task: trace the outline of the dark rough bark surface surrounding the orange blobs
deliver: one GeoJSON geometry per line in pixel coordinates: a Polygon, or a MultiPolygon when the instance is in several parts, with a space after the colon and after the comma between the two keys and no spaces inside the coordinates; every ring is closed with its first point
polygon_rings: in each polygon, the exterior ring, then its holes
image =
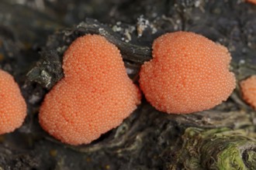
{"type": "Polygon", "coordinates": [[[164,32],[202,34],[227,46],[237,83],[256,73],[256,5],[242,0],[1,1],[0,68],[15,76],[28,115],[0,136],[2,169],[255,169],[255,110],[240,97],[195,114],[161,113],[145,99],[118,128],[70,146],[40,128],[45,94],[64,76],[62,56],[78,36],[105,36],[135,83],[164,32]]]}

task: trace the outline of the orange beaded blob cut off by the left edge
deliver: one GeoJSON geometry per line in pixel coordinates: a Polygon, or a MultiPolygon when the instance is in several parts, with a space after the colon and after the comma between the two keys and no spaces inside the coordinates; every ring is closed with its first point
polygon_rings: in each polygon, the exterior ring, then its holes
{"type": "Polygon", "coordinates": [[[26,117],[26,102],[13,77],[0,70],[0,134],[19,128],[26,117]]]}

